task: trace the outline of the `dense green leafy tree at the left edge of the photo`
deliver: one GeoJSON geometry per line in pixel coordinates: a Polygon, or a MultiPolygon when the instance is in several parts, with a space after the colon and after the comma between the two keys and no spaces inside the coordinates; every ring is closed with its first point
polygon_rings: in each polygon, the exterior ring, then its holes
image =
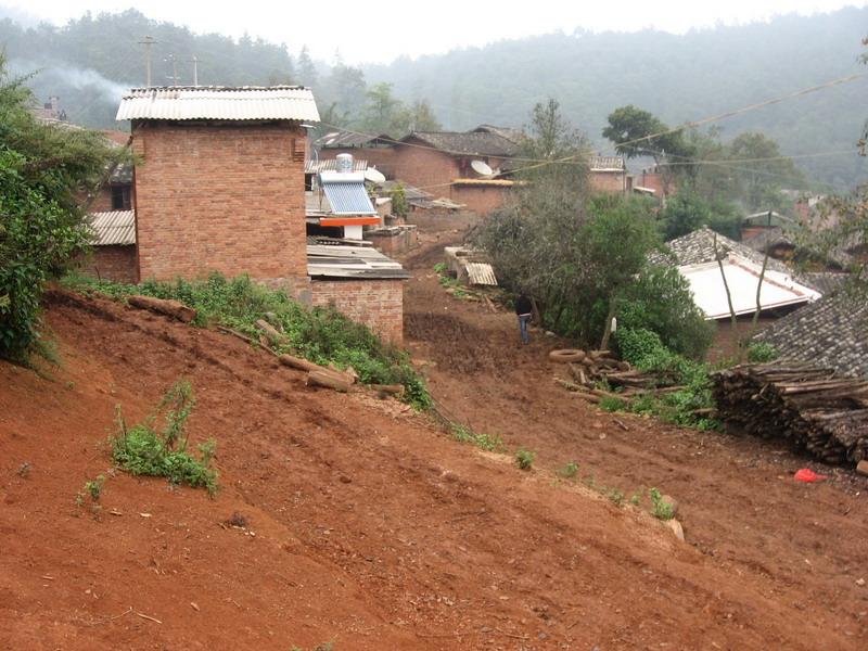
{"type": "Polygon", "coordinates": [[[38,123],[0,56],[0,357],[26,361],[44,284],[87,246],[79,199],[124,156],[102,135],[38,123]]]}

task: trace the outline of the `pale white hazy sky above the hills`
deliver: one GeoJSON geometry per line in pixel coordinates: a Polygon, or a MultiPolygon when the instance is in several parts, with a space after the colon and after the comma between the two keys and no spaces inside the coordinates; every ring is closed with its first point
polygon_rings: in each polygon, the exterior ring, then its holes
{"type": "MultiPolygon", "coordinates": [[[[142,0],[135,7],[151,18],[189,26],[193,31],[241,36],[245,31],[285,42],[292,51],[307,43],[316,58],[332,60],[335,49],[348,63],[387,62],[401,54],[418,56],[455,48],[545,34],[634,31],[654,27],[684,33],[767,20],[776,14],[828,12],[868,0],[327,0],[319,2],[182,2],[142,0]]],[[[85,11],[122,11],[132,7],[113,0],[0,0],[0,5],[63,24],[85,11]]]]}

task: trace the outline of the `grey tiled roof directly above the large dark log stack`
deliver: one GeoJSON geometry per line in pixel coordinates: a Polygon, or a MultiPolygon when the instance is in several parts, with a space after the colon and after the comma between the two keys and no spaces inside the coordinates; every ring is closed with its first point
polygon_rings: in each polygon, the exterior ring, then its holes
{"type": "Polygon", "coordinates": [[[781,357],[829,366],[843,375],[868,375],[868,301],[839,290],[783,317],[754,340],[781,357]]]}

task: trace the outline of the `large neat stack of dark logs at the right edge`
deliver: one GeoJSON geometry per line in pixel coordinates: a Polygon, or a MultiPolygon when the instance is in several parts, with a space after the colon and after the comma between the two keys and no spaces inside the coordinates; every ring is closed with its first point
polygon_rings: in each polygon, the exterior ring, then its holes
{"type": "Polygon", "coordinates": [[[733,431],[789,439],[827,463],[868,458],[868,380],[792,361],[741,365],[713,379],[718,413],[733,431]]]}

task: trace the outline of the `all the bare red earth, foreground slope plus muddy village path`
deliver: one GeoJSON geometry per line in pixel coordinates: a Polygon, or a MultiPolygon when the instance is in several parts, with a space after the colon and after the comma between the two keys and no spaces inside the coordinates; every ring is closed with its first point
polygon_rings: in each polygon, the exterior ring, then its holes
{"type": "Polygon", "coordinates": [[[0,648],[868,647],[868,482],[572,398],[560,342],[522,347],[513,316],[437,284],[463,226],[407,257],[407,343],[441,410],[507,454],[231,336],[52,293],[60,367],[0,362],[0,648]],[[217,441],[214,499],[111,468],[116,406],[137,422],[179,378],[191,438],[217,441]],[[584,482],[556,474],[569,461],[584,482]],[[831,478],[796,484],[803,465],[831,478]],[[94,514],[75,496],[100,474],[94,514]],[[674,496],[686,541],[590,475],[674,496]]]}

